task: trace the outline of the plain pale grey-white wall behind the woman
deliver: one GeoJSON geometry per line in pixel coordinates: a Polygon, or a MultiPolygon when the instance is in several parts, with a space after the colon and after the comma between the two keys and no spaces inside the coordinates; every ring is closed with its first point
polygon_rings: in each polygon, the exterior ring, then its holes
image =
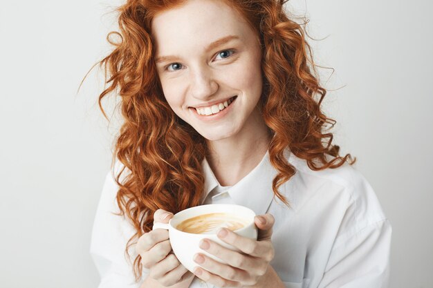
{"type": "MultiPolygon", "coordinates": [[[[390,287],[433,287],[432,3],[290,3],[323,39],[310,41],[317,64],[335,69],[321,80],[336,143],[391,221],[390,287]]],[[[77,88],[109,52],[115,6],[1,1],[0,287],[98,285],[89,242],[118,124],[98,111],[98,68],[77,88]]]]}

